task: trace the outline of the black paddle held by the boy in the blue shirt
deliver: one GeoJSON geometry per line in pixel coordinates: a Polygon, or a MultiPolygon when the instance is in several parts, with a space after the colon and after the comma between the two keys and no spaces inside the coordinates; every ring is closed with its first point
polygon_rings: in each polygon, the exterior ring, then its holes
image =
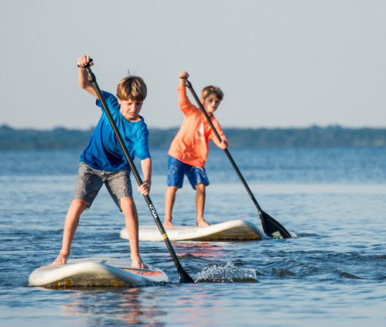
{"type": "MultiPolygon", "coordinates": [[[[110,110],[106,105],[106,102],[104,100],[104,96],[102,95],[102,92],[100,91],[100,88],[97,84],[97,79],[95,78],[95,74],[91,71],[90,65],[85,67],[85,70],[88,74],[88,80],[92,84],[92,86],[95,89],[95,92],[97,92],[98,98],[100,102],[102,103],[102,107],[104,109],[104,112],[107,116],[107,118],[110,121],[111,127],[113,128],[113,131],[116,135],[116,138],[118,139],[118,142],[120,144],[120,147],[122,147],[123,153],[125,154],[126,160],[130,165],[130,168],[132,170],[132,173],[135,176],[135,179],[137,180],[138,185],[142,185],[142,179],[141,176],[139,176],[139,173],[137,171],[137,168],[135,168],[135,164],[132,161],[129,152],[127,151],[127,147],[125,145],[125,142],[123,142],[123,138],[120,135],[118,128],[116,127],[115,121],[113,121],[113,117],[111,116],[110,110]]],[[[177,258],[176,253],[174,252],[174,248],[172,247],[172,243],[170,243],[169,238],[167,237],[167,234],[165,232],[165,229],[163,228],[162,223],[160,222],[160,218],[158,218],[158,213],[156,211],[156,208],[153,206],[153,202],[150,199],[149,195],[144,195],[144,198],[146,200],[147,206],[149,207],[149,210],[151,212],[151,215],[153,215],[154,220],[156,221],[156,224],[158,226],[158,229],[160,229],[160,233],[163,236],[163,240],[165,241],[165,244],[167,246],[167,249],[169,250],[170,255],[172,256],[172,259],[174,261],[174,265],[177,267],[177,271],[179,272],[179,281],[180,283],[194,283],[191,276],[188,275],[187,272],[181,267],[181,264],[179,263],[179,260],[177,258]]]]}

